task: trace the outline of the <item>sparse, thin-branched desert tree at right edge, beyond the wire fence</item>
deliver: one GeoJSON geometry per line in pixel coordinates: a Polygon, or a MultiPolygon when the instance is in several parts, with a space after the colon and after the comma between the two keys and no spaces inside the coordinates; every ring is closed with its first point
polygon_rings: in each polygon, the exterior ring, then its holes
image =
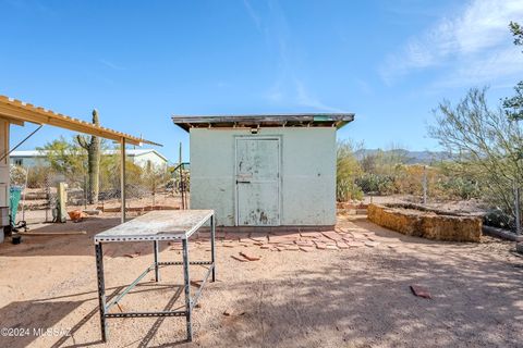
{"type": "Polygon", "coordinates": [[[477,181],[486,202],[514,216],[513,185],[523,173],[523,133],[501,108],[487,105],[486,90],[472,88],[457,104],[439,103],[429,135],[453,154],[461,174],[477,181]]]}

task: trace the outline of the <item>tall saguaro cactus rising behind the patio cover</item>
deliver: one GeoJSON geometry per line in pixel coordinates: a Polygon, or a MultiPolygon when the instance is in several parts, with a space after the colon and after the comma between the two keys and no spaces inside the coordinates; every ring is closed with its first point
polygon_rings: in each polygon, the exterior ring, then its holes
{"type": "MultiPolygon", "coordinates": [[[[93,123],[99,125],[98,111],[93,110],[93,123]]],[[[100,139],[97,136],[76,136],[78,145],[87,150],[87,200],[90,204],[98,202],[99,177],[100,177],[100,139]]]]}

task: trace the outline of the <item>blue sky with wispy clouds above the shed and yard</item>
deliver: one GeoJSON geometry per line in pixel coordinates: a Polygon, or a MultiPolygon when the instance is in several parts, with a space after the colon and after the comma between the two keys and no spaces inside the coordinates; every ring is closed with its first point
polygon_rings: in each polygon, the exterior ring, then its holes
{"type": "Polygon", "coordinates": [[[495,105],[523,79],[510,21],[523,1],[0,0],[0,94],[84,120],[97,108],[173,162],[188,136],[172,114],[354,112],[339,138],[437,149],[440,100],[487,85],[495,105]]]}

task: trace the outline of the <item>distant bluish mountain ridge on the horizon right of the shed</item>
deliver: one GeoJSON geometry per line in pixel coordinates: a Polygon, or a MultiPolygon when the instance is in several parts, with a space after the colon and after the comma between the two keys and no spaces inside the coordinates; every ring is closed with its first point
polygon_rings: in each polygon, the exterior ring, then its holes
{"type": "Polygon", "coordinates": [[[393,156],[406,164],[430,164],[450,160],[452,156],[445,151],[409,151],[404,149],[381,150],[381,149],[360,149],[354,152],[356,159],[362,160],[368,156],[393,156]]]}

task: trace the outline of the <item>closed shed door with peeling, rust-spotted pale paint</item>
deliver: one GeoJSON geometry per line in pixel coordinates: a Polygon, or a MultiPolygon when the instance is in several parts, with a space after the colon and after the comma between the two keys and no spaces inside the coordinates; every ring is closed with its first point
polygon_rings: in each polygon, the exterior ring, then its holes
{"type": "Polygon", "coordinates": [[[280,224],[280,140],[236,139],[236,224],[280,224]]]}

